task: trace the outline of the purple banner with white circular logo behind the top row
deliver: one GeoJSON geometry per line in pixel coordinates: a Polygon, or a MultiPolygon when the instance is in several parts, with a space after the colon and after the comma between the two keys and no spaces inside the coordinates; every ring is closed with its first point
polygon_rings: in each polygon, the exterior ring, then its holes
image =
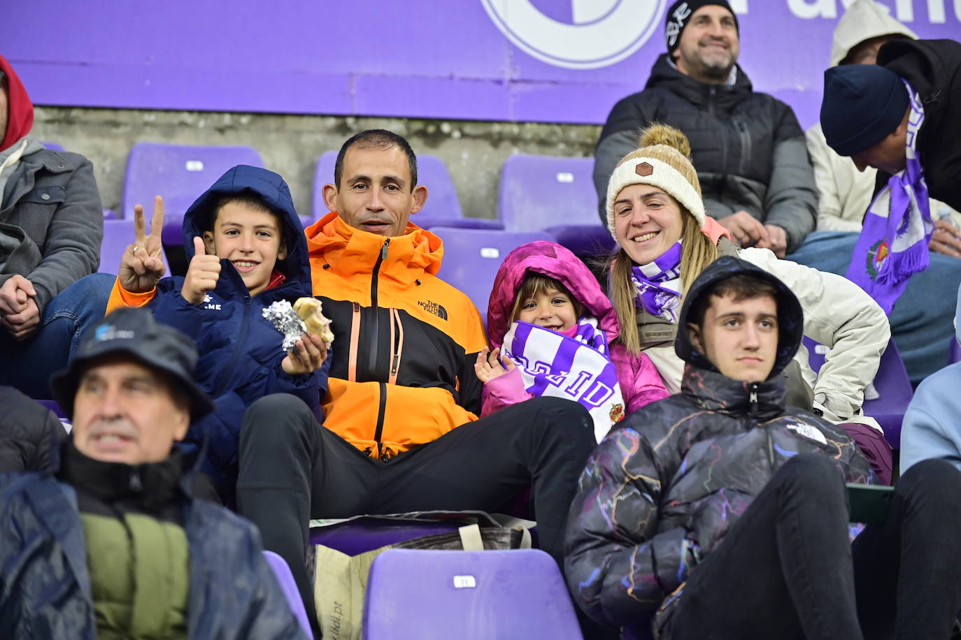
{"type": "MultiPolygon", "coordinates": [[[[817,120],[850,0],[732,0],[754,88],[817,120]]],[[[961,0],[883,0],[921,37],[961,0]]],[[[5,3],[38,105],[601,123],[663,53],[668,0],[5,3]]]]}

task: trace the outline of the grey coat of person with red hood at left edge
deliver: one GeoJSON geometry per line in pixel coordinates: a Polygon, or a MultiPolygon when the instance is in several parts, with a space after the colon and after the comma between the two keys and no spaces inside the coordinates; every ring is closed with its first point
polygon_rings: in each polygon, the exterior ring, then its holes
{"type": "Polygon", "coordinates": [[[0,236],[0,286],[16,273],[29,279],[41,314],[97,271],[104,214],[90,161],[46,149],[20,158],[0,204],[0,236]]]}

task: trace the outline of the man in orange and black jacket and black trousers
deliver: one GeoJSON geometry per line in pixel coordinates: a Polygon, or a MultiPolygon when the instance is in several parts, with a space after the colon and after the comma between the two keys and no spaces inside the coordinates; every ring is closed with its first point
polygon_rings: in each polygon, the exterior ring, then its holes
{"type": "Polygon", "coordinates": [[[331,213],[305,230],[334,335],[323,427],[285,394],[260,399],[241,427],[238,510],[287,560],[311,614],[311,517],[499,510],[533,485],[541,547],[560,559],[595,445],[590,416],[564,399],[478,418],[486,339],[474,304],[435,275],[440,239],[409,223],[427,195],[403,137],[344,143],[324,187],[331,213]]]}

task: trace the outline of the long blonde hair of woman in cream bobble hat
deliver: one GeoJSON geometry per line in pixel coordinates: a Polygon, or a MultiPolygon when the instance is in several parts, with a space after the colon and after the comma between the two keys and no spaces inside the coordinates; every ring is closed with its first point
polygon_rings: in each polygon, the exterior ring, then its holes
{"type": "MultiPolygon", "coordinates": [[[[710,238],[704,235],[701,225],[678,202],[682,220],[681,251],[680,251],[680,281],[683,285],[682,295],[687,294],[688,287],[695,278],[701,275],[704,268],[718,259],[718,249],[710,238]]],[[[628,252],[618,247],[610,259],[610,295],[617,312],[617,320],[621,323],[621,344],[631,354],[641,351],[641,336],[637,331],[637,291],[631,281],[633,260],[628,252]]]]}

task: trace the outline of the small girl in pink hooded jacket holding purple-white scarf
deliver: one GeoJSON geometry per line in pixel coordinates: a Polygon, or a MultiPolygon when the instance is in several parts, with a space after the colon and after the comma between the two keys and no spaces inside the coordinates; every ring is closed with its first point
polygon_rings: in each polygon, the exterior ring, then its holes
{"type": "Polygon", "coordinates": [[[480,415],[534,395],[574,400],[594,418],[598,441],[625,415],[667,397],[645,354],[618,344],[614,308],[587,267],[553,242],[511,251],[487,307],[493,351],[475,365],[480,415]]]}

